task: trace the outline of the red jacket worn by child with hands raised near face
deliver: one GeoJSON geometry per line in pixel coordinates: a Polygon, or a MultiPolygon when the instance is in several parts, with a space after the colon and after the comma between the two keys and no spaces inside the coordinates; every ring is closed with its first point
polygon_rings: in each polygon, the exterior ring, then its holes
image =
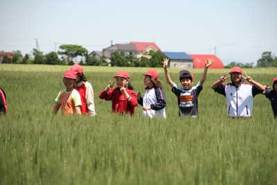
{"type": "Polygon", "coordinates": [[[100,91],[99,98],[105,100],[111,100],[111,108],[113,112],[118,112],[120,114],[130,113],[134,115],[134,107],[138,105],[138,100],[136,100],[136,94],[133,90],[126,89],[127,94],[131,96],[129,100],[127,100],[127,96],[122,94],[120,89],[110,89],[105,92],[100,91]]]}

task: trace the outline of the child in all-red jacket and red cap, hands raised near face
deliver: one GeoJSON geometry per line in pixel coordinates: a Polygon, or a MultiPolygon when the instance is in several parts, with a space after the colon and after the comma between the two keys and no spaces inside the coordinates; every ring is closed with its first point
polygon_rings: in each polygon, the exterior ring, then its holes
{"type": "Polygon", "coordinates": [[[111,100],[111,109],[115,113],[134,115],[134,107],[138,105],[138,101],[129,82],[129,73],[119,71],[114,78],[116,78],[117,87],[113,89],[114,83],[109,82],[109,85],[100,91],[99,98],[111,100]]]}

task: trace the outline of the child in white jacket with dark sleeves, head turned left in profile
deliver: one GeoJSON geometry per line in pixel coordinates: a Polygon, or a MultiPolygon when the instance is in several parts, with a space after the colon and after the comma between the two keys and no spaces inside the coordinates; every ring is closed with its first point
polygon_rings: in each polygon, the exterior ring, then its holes
{"type": "Polygon", "coordinates": [[[159,73],[150,69],[143,75],[146,91],[143,97],[137,93],[139,104],[143,106],[143,116],[166,118],[166,96],[158,80],[159,73]]]}

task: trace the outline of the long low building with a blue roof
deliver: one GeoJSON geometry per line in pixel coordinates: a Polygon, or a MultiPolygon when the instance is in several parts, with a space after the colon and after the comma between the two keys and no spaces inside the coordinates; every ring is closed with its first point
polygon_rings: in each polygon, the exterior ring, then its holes
{"type": "Polygon", "coordinates": [[[168,67],[184,68],[184,69],[193,68],[193,58],[191,58],[185,52],[163,51],[163,54],[166,55],[167,58],[169,58],[168,67]]]}

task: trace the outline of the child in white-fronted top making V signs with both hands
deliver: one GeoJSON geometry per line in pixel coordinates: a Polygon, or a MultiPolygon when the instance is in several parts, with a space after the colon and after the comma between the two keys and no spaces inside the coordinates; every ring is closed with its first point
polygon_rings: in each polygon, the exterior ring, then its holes
{"type": "Polygon", "coordinates": [[[254,81],[250,76],[242,76],[240,67],[230,70],[231,83],[223,84],[228,77],[222,76],[217,80],[212,89],[226,97],[228,116],[251,118],[253,109],[253,97],[265,91],[265,87],[254,81]],[[247,80],[249,83],[245,83],[247,80]]]}

